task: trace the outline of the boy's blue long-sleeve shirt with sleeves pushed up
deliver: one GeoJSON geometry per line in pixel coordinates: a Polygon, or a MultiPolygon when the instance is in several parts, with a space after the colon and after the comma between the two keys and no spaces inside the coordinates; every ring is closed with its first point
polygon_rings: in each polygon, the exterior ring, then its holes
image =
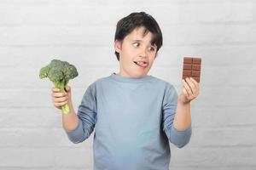
{"type": "Polygon", "coordinates": [[[172,84],[113,73],[90,84],[79,105],[79,125],[66,132],[79,143],[95,129],[95,170],[167,170],[169,141],[180,148],[191,136],[191,127],[173,127],[176,108],[172,84]]]}

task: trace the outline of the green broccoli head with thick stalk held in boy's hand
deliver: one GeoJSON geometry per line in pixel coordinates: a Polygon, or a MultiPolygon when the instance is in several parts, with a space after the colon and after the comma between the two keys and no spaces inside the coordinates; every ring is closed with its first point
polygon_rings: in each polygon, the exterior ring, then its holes
{"type": "MultiPolygon", "coordinates": [[[[70,79],[78,77],[79,73],[74,65],[70,65],[67,61],[52,59],[49,65],[40,69],[39,77],[49,78],[54,83],[55,88],[59,88],[61,92],[65,91],[65,87],[70,79]]],[[[63,105],[61,110],[64,114],[70,113],[68,105],[63,105]]]]}

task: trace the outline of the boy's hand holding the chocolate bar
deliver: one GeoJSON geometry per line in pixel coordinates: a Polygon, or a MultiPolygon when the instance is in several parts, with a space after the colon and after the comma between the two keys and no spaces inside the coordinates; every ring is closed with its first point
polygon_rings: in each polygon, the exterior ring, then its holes
{"type": "Polygon", "coordinates": [[[186,81],[183,79],[183,90],[179,96],[179,100],[184,104],[189,103],[195,99],[199,94],[199,83],[192,77],[187,77],[186,81]]]}

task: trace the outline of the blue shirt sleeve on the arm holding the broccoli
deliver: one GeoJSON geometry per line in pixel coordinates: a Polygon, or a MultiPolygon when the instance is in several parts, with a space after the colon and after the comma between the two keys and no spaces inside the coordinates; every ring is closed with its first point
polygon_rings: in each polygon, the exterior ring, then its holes
{"type": "Polygon", "coordinates": [[[90,85],[84,93],[78,111],[79,125],[73,131],[67,131],[67,137],[73,143],[83,142],[90,137],[96,124],[96,88],[90,85]]]}

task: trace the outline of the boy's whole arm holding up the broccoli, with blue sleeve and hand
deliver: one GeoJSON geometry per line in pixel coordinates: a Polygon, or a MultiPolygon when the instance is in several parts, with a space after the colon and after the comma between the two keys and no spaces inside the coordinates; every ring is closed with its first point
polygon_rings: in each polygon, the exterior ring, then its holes
{"type": "Polygon", "coordinates": [[[68,138],[73,143],[80,143],[89,138],[90,133],[96,124],[96,90],[95,88],[87,88],[81,105],[79,105],[78,114],[73,110],[71,101],[71,88],[67,87],[67,93],[59,94],[61,98],[58,103],[55,102],[55,106],[61,109],[61,105],[67,105],[70,107],[70,114],[62,114],[62,126],[67,133],[68,138]]]}

